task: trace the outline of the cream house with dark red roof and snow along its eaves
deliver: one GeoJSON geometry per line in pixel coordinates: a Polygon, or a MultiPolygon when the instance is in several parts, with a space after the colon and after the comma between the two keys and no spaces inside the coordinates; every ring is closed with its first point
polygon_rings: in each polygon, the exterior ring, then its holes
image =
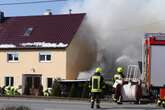
{"type": "Polygon", "coordinates": [[[74,80],[95,54],[77,34],[85,14],[4,17],[0,14],[0,86],[33,95],[54,79],[74,80]]]}

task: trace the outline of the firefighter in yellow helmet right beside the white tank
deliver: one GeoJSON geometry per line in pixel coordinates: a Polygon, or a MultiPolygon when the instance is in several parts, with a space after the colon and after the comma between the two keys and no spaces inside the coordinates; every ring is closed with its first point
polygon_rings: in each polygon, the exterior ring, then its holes
{"type": "Polygon", "coordinates": [[[117,67],[116,74],[113,77],[114,84],[113,84],[113,91],[114,94],[112,96],[113,100],[118,104],[121,104],[122,95],[121,95],[121,87],[123,84],[124,79],[124,69],[122,67],[117,67]]]}

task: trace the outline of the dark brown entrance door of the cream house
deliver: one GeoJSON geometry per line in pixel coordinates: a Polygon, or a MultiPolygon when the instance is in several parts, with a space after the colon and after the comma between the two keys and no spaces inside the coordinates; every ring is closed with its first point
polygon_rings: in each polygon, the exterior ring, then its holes
{"type": "Polygon", "coordinates": [[[25,74],[24,76],[24,94],[38,96],[40,93],[41,75],[25,74]]]}

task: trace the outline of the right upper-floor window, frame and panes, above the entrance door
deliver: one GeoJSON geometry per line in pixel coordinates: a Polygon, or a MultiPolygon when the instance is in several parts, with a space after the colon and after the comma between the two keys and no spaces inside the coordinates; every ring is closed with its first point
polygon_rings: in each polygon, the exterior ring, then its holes
{"type": "Polygon", "coordinates": [[[51,61],[51,54],[49,54],[49,53],[40,53],[39,54],[39,61],[40,62],[50,62],[51,61]]]}

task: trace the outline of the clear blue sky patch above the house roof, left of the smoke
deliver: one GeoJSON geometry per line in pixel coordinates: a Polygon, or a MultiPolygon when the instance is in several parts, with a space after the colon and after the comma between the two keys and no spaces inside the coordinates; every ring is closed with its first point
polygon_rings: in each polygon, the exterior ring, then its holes
{"type": "MultiPolygon", "coordinates": [[[[18,3],[18,2],[34,2],[34,1],[47,1],[47,0],[0,0],[3,3],[18,3]]],[[[51,9],[54,14],[60,14],[61,10],[67,4],[75,1],[83,0],[66,0],[59,2],[37,3],[37,4],[23,4],[23,5],[0,5],[0,10],[5,12],[5,16],[29,16],[41,15],[46,9],[51,9]]],[[[69,10],[69,9],[68,9],[69,10]]]]}

